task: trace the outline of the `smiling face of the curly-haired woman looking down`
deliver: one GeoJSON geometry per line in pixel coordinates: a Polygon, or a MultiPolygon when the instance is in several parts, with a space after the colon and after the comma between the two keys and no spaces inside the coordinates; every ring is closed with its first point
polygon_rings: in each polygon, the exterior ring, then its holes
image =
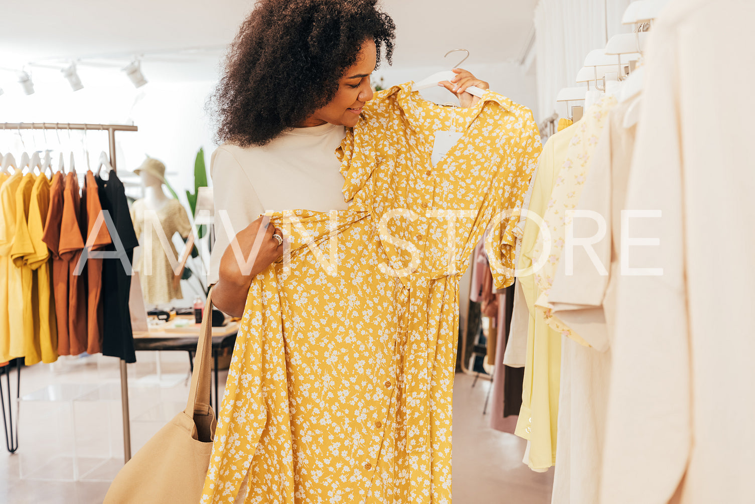
{"type": "Polygon", "coordinates": [[[354,126],[362,113],[362,105],[372,99],[370,74],[377,63],[374,40],[362,42],[356,63],[338,81],[338,91],[325,107],[315,110],[302,126],[319,126],[330,122],[339,126],[354,126]]]}

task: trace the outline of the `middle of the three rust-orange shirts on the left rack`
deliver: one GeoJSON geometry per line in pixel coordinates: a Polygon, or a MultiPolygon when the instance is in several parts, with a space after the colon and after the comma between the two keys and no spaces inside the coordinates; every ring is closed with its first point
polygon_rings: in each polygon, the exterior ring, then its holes
{"type": "Polygon", "coordinates": [[[68,261],[68,338],[69,353],[79,355],[87,351],[87,292],[86,268],[76,274],[76,265],[84,249],[82,238],[81,197],[79,179],[66,174],[63,190],[63,218],[60,221],[60,257],[68,261]]]}

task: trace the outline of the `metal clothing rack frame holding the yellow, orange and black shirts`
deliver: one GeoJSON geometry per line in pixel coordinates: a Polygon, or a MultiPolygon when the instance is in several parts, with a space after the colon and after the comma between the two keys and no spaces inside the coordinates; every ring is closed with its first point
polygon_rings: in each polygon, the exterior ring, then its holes
{"type": "MultiPolygon", "coordinates": [[[[5,130],[22,130],[22,129],[57,129],[57,130],[82,130],[82,131],[107,131],[110,166],[112,169],[116,169],[116,131],[139,131],[139,128],[134,125],[122,125],[122,124],[89,124],[83,122],[4,122],[2,123],[5,130]]],[[[18,366],[18,379],[20,381],[20,362],[17,360],[18,366]]],[[[2,393],[2,388],[0,388],[2,393]]],[[[10,391],[8,391],[8,405],[10,407],[11,397],[10,391]]],[[[0,397],[2,399],[2,397],[0,397]]],[[[18,400],[18,397],[17,397],[18,400]]],[[[126,369],[125,360],[121,359],[121,405],[123,412],[123,457],[125,462],[131,459],[131,422],[128,415],[128,371],[126,369]]],[[[18,408],[17,408],[18,411],[18,408]]],[[[8,431],[8,425],[5,422],[5,416],[3,422],[6,424],[5,429],[8,431]]],[[[13,422],[11,420],[11,429],[13,422]]],[[[16,423],[18,428],[18,422],[16,423]]],[[[10,450],[10,446],[8,449],[10,450]]],[[[17,449],[17,446],[15,446],[17,449]]],[[[15,451],[14,449],[14,451],[15,451]]]]}

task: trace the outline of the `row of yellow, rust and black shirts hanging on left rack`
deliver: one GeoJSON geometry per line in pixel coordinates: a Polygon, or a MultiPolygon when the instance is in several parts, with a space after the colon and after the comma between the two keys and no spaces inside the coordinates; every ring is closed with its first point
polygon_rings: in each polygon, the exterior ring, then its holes
{"type": "Polygon", "coordinates": [[[92,254],[125,252],[131,264],[138,243],[123,184],[97,169],[79,187],[75,168],[41,172],[27,158],[15,165],[6,154],[0,172],[0,362],[100,352],[134,362],[128,274],[118,258],[92,254]]]}

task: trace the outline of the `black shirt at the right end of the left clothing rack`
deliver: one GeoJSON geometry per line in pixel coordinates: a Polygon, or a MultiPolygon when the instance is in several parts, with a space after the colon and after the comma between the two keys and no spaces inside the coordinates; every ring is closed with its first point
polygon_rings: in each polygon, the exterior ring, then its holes
{"type": "MultiPolygon", "coordinates": [[[[115,171],[109,172],[108,179],[103,180],[95,175],[97,193],[103,212],[107,211],[116,227],[118,239],[128,256],[128,263],[133,264],[134,248],[139,245],[134,224],[131,222],[131,212],[128,211],[123,183],[115,171]]],[[[112,235],[112,231],[111,231],[112,235]]],[[[116,237],[112,237],[113,242],[116,237]]],[[[111,243],[104,249],[115,252],[116,246],[111,243]]],[[[129,292],[131,291],[131,271],[126,271],[122,261],[118,258],[104,258],[102,266],[102,305],[103,305],[103,342],[102,354],[110,357],[120,357],[127,363],[137,361],[134,353],[134,334],[131,332],[131,311],[128,309],[129,292]]]]}

